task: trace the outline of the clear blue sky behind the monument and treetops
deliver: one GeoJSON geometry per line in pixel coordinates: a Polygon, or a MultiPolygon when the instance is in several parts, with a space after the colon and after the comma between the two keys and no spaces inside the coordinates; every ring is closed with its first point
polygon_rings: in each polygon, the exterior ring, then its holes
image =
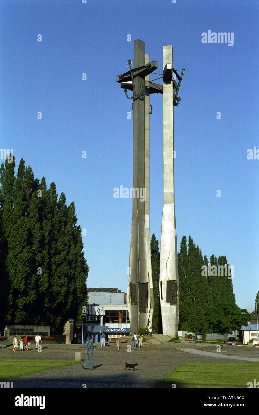
{"type": "MultiPolygon", "coordinates": [[[[225,255],[237,305],[254,310],[259,160],[248,160],[247,149],[259,149],[258,3],[1,0],[0,10],[0,147],[13,149],[17,165],[23,157],[48,186],[54,181],[67,204],[75,202],[87,230],[88,287],[127,290],[132,200],[115,199],[113,189],[132,187],[133,120],[116,76],[127,71],[133,41],[141,39],[157,72],[168,44],[174,68],[185,68],[174,108],[178,249],[191,235],[208,258],[225,255]],[[233,46],[202,43],[209,30],[233,32],[233,46]]],[[[161,94],[150,103],[150,230],[160,243],[161,94]]]]}

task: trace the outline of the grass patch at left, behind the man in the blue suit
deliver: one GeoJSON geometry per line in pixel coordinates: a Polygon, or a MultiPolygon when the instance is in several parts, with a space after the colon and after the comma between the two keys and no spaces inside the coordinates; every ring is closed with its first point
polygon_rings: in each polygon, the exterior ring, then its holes
{"type": "Polygon", "coordinates": [[[42,372],[56,367],[78,364],[71,360],[6,360],[0,359],[0,381],[8,378],[28,375],[30,373],[42,372]]]}

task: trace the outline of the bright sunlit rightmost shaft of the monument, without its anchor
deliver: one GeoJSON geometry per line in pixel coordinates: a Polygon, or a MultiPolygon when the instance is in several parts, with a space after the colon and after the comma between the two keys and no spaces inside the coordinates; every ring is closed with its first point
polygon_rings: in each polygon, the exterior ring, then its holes
{"type": "Polygon", "coordinates": [[[173,48],[163,46],[164,206],[160,244],[160,304],[163,334],[178,334],[179,280],[174,209],[173,48]]]}

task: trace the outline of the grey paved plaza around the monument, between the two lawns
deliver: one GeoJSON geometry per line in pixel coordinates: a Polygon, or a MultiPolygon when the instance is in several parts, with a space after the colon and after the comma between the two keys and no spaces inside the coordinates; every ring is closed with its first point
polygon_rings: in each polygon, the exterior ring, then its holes
{"type": "MultiPolygon", "coordinates": [[[[105,348],[101,348],[100,343],[94,343],[95,370],[90,371],[89,365],[83,369],[82,360],[82,363],[20,376],[10,381],[14,382],[14,388],[163,388],[161,379],[183,363],[259,361],[259,349],[253,347],[226,345],[222,352],[216,352],[215,345],[196,345],[186,341],[176,344],[169,342],[166,336],[156,336],[144,342],[143,349],[131,348],[131,352],[127,352],[127,349],[132,342],[125,340],[120,343],[120,351],[117,351],[114,342],[105,348]],[[135,371],[125,371],[125,362],[137,363],[138,366],[135,371]]],[[[75,352],[82,352],[82,359],[87,359],[86,344],[64,345],[45,341],[42,343],[42,352],[37,352],[35,348],[12,352],[10,342],[1,342],[1,346],[4,347],[0,348],[0,359],[17,360],[17,366],[20,359],[74,361],[75,352]]],[[[244,388],[247,388],[246,384],[244,388]]]]}

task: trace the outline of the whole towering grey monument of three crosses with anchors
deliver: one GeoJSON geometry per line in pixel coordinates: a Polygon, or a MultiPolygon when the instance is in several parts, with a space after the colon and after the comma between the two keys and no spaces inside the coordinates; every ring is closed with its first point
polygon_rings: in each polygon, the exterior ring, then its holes
{"type": "MultiPolygon", "coordinates": [[[[179,283],[177,264],[176,221],[174,210],[174,159],[173,159],[173,106],[181,101],[178,90],[181,77],[173,69],[172,46],[163,46],[163,85],[149,81],[150,73],[157,69],[157,61],[149,62],[144,42],[134,41],[134,68],[117,76],[127,99],[133,100],[133,195],[132,230],[129,251],[129,283],[127,305],[131,332],[151,327],[153,316],[153,283],[151,271],[149,229],[149,95],[163,94],[164,120],[164,207],[160,248],[160,303],[163,334],[178,333],[179,283]],[[175,74],[175,75],[174,75],[175,74]],[[177,77],[178,84],[174,77],[177,77]],[[129,97],[127,90],[133,91],[129,97]],[[145,198],[139,198],[142,190],[145,198]],[[135,193],[134,193],[135,192],[135,193]]],[[[154,80],[155,81],[155,80],[154,80]]]]}

